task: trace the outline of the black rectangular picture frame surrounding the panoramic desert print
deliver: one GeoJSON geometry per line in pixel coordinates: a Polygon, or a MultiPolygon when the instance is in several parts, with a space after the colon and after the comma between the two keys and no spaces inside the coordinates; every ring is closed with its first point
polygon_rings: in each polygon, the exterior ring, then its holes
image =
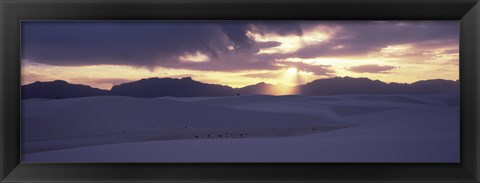
{"type": "Polygon", "coordinates": [[[1,182],[478,182],[478,0],[0,0],[1,182]],[[21,163],[22,20],[459,20],[460,163],[21,163]]]}

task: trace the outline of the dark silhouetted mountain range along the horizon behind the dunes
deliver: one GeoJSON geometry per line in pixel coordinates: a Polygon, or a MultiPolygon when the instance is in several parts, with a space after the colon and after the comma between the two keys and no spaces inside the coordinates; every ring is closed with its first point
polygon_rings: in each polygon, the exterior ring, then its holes
{"type": "Polygon", "coordinates": [[[190,77],[181,79],[149,78],[113,86],[110,91],[86,85],[70,84],[65,81],[35,82],[22,86],[22,98],[74,98],[86,96],[131,96],[131,97],[220,97],[234,95],[270,94],[299,95],[338,94],[434,94],[459,92],[459,81],[424,80],[412,84],[384,83],[368,78],[336,77],[318,79],[294,87],[272,85],[264,82],[242,88],[207,84],[190,77]]]}

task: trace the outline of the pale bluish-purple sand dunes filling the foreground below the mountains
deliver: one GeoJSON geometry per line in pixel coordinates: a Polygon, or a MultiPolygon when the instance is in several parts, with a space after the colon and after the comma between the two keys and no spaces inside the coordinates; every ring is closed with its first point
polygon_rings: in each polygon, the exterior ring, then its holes
{"type": "Polygon", "coordinates": [[[457,102],[455,94],[29,99],[23,158],[457,162],[457,102]]]}

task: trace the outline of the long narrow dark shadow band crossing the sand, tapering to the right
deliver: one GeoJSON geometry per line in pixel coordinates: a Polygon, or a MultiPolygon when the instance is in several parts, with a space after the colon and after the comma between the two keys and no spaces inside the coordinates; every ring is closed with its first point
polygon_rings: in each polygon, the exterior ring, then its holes
{"type": "Polygon", "coordinates": [[[155,129],[91,136],[76,136],[25,140],[22,143],[22,154],[39,153],[61,149],[119,144],[128,142],[148,142],[164,140],[214,140],[241,138],[278,138],[325,133],[333,130],[349,128],[348,125],[311,126],[289,128],[250,128],[250,129],[155,129]]]}

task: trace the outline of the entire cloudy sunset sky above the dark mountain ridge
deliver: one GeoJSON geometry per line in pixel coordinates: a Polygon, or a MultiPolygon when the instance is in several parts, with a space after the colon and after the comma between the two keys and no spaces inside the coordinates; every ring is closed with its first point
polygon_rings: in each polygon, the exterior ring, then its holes
{"type": "Polygon", "coordinates": [[[24,21],[22,84],[459,78],[458,21],[24,21]]]}

